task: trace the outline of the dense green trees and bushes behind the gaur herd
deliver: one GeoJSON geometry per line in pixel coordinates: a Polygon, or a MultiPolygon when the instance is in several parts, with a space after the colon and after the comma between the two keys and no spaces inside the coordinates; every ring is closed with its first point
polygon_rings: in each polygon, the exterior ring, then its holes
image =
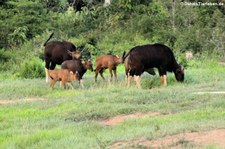
{"type": "Polygon", "coordinates": [[[2,0],[0,70],[16,77],[43,77],[43,43],[52,32],[53,40],[73,42],[85,49],[84,58],[92,60],[149,43],[166,44],[181,62],[185,51],[224,57],[225,2],[211,0],[216,6],[188,2],[112,0],[104,6],[103,0],[2,0]]]}

